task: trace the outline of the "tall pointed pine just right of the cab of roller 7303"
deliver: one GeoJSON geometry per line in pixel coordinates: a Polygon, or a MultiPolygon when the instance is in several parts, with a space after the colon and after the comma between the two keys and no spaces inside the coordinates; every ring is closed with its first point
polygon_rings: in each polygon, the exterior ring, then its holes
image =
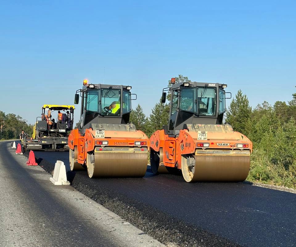
{"type": "Polygon", "coordinates": [[[230,122],[235,131],[245,134],[246,124],[251,116],[252,107],[249,106],[247,96],[238,90],[235,98],[232,99],[228,110],[226,110],[227,122],[230,122]]]}

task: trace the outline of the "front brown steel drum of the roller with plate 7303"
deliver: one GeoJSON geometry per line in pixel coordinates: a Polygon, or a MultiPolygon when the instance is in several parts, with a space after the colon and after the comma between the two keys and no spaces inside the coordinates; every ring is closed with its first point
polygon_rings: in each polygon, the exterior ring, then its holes
{"type": "Polygon", "coordinates": [[[200,152],[192,157],[182,157],[182,174],[186,182],[241,182],[245,181],[249,170],[249,151],[200,152]],[[194,161],[195,166],[192,169],[190,164],[194,161]]]}

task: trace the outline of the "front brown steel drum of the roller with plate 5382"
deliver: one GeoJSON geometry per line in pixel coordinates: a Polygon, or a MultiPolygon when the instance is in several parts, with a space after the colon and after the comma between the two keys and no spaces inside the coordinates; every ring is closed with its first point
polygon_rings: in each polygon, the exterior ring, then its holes
{"type": "Polygon", "coordinates": [[[98,177],[144,177],[147,170],[147,152],[95,152],[94,163],[87,155],[88,175],[98,177]]]}

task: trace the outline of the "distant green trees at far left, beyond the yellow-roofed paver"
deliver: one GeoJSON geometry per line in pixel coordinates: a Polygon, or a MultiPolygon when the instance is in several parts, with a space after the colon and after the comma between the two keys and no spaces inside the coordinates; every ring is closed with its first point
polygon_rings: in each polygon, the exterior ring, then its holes
{"type": "Polygon", "coordinates": [[[19,139],[22,130],[32,135],[33,125],[27,124],[27,121],[19,115],[0,111],[0,140],[19,139]]]}

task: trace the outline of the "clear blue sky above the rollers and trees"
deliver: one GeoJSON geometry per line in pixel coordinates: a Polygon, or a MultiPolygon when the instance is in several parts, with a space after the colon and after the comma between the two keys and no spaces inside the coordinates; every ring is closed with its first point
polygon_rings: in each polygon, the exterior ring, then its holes
{"type": "Polygon", "coordinates": [[[28,123],[72,104],[84,78],[103,83],[104,67],[146,115],[178,74],[241,89],[252,107],[296,92],[295,1],[0,3],[0,110],[28,123]]]}

